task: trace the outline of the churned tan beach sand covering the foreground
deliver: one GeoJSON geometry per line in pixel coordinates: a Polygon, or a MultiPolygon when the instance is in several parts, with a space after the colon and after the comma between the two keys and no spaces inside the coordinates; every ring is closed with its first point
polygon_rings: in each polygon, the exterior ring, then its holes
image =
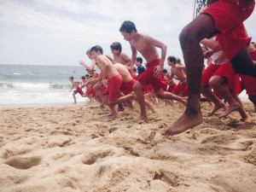
{"type": "Polygon", "coordinates": [[[94,105],[0,108],[0,191],[254,192],[256,113],[244,107],[218,119],[202,103],[204,123],[160,135],[183,113],[160,103],[148,122],[138,107],[109,119],[94,105]]]}

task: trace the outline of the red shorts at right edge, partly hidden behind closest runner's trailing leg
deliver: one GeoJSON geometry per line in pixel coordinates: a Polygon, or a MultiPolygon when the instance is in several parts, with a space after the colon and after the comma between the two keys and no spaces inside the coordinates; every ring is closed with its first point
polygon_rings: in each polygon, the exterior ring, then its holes
{"type": "MultiPolygon", "coordinates": [[[[250,53],[252,60],[256,61],[256,50],[250,53]]],[[[247,76],[247,75],[241,75],[241,84],[244,85],[244,89],[247,90],[247,95],[249,96],[256,96],[256,78],[247,76]]]]}

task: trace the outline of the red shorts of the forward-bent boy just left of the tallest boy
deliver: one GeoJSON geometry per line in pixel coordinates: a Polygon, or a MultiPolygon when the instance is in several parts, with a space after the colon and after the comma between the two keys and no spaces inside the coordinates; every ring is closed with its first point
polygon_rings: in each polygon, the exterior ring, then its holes
{"type": "Polygon", "coordinates": [[[105,93],[108,93],[108,102],[114,102],[117,100],[122,82],[123,79],[120,74],[108,79],[108,87],[105,91],[105,93]]]}

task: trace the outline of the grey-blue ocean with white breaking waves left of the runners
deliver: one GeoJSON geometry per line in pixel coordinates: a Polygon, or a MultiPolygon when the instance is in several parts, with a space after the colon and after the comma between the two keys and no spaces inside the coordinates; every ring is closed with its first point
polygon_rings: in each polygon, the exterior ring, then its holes
{"type": "MultiPolygon", "coordinates": [[[[69,77],[81,81],[82,66],[0,65],[0,105],[69,104],[69,77]]],[[[78,103],[87,99],[76,95],[78,103]]]]}

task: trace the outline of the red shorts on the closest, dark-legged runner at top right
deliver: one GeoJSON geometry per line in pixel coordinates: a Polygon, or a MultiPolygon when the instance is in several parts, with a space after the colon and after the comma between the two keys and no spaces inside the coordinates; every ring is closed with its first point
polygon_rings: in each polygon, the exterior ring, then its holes
{"type": "Polygon", "coordinates": [[[242,22],[253,13],[255,2],[251,9],[243,10],[244,1],[246,0],[242,0],[240,5],[237,5],[236,0],[218,0],[203,12],[212,16],[215,28],[219,32],[217,34],[219,45],[229,60],[251,41],[251,38],[247,38],[242,22]]]}

